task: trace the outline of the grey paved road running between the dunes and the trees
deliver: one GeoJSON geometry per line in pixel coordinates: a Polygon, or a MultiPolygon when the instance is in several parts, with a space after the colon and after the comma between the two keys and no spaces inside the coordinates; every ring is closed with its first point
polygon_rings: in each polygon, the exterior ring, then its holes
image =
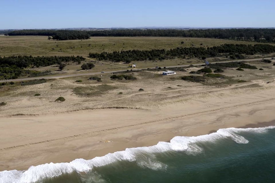
{"type": "MultiPolygon", "coordinates": [[[[220,63],[220,62],[231,62],[231,61],[256,61],[256,60],[262,60],[262,59],[271,59],[271,57],[265,57],[265,58],[253,58],[253,59],[239,59],[239,60],[229,60],[229,61],[217,61],[217,62],[211,62],[211,63],[220,63]]],[[[202,65],[203,63],[196,63],[192,65],[202,65]]],[[[174,66],[167,66],[166,68],[173,68],[173,67],[187,67],[190,64],[187,65],[174,65],[174,66]]],[[[152,67],[153,69],[155,67],[152,67]]],[[[147,69],[147,68],[140,68],[135,70],[141,70],[141,69],[147,69]]],[[[3,82],[11,82],[11,81],[27,81],[27,80],[34,80],[34,79],[58,79],[63,77],[74,77],[74,76],[81,76],[81,75],[95,75],[95,74],[106,74],[106,73],[113,73],[113,72],[121,72],[124,70],[118,70],[118,71],[105,71],[105,73],[101,72],[91,72],[91,73],[79,73],[79,74],[66,74],[66,75],[51,75],[51,76],[41,76],[41,77],[26,77],[21,79],[9,79],[9,80],[1,80],[0,83],[3,82]]]]}

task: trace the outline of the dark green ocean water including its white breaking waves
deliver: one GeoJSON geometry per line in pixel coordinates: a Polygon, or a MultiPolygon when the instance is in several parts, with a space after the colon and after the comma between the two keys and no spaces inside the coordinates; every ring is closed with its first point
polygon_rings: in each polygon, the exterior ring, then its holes
{"type": "Polygon", "coordinates": [[[0,183],[275,182],[275,127],[174,137],[92,160],[2,171],[0,183]]]}

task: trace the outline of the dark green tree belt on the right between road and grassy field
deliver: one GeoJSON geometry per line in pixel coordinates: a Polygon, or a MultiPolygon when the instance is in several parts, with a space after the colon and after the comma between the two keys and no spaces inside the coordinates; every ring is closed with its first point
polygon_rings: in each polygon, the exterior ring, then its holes
{"type": "Polygon", "coordinates": [[[253,55],[255,53],[271,53],[275,52],[275,46],[268,44],[244,45],[244,44],[223,44],[214,47],[184,47],[175,48],[170,50],[165,49],[152,49],[152,50],[128,50],[128,51],[114,51],[112,53],[89,53],[89,57],[98,60],[110,61],[142,61],[142,60],[162,60],[172,59],[175,57],[215,57],[220,53],[229,53],[229,55],[253,55]]]}

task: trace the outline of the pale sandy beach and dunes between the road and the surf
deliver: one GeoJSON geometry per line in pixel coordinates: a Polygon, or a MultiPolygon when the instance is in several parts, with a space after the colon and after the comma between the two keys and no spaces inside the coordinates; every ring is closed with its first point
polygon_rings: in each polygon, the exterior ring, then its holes
{"type": "Polygon", "coordinates": [[[275,119],[273,69],[228,69],[225,75],[242,75],[248,82],[221,85],[178,79],[187,72],[160,76],[152,71],[133,73],[135,81],[106,75],[103,82],[83,77],[2,88],[1,101],[7,105],[0,108],[0,171],[92,159],[174,136],[270,122],[275,119]],[[54,102],[59,96],[66,100],[54,102]]]}

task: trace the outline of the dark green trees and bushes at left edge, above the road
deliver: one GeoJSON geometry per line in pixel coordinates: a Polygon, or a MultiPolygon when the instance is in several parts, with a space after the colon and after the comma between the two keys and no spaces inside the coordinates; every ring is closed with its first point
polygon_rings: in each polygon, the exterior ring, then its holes
{"type": "MultiPolygon", "coordinates": [[[[27,67],[41,67],[62,62],[85,60],[82,56],[10,56],[0,57],[0,79],[16,79],[20,76],[39,75],[38,71],[24,70],[27,67]]],[[[47,73],[46,73],[47,74],[47,73]]]]}

